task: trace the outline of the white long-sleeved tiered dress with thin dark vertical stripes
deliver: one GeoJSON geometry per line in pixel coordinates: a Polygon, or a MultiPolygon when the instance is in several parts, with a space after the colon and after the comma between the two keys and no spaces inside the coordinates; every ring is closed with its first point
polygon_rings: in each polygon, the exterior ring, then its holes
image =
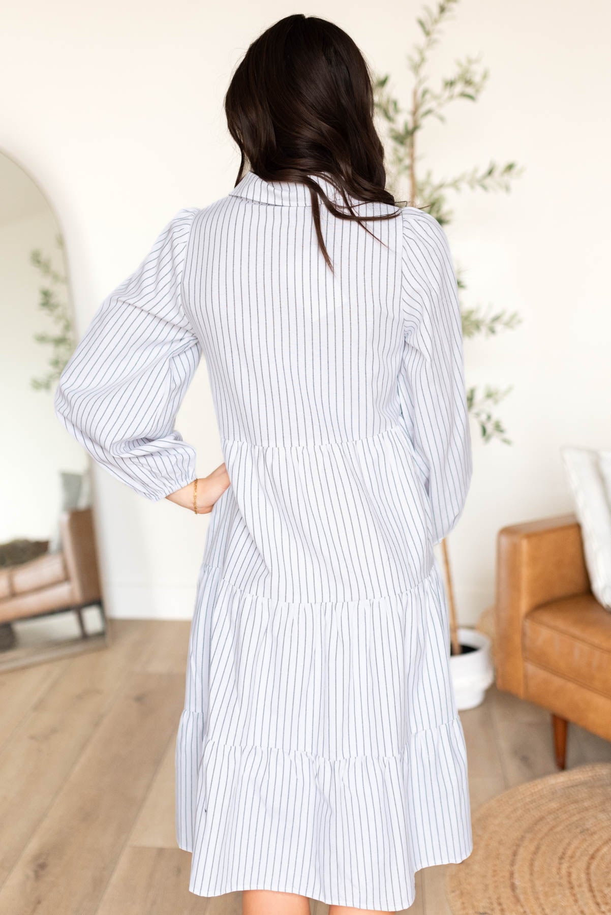
{"type": "Polygon", "coordinates": [[[433,550],[471,477],[456,278],[426,213],[368,223],[376,237],[321,219],[334,272],[303,185],[248,173],[181,210],[102,303],[56,409],[161,499],[197,475],[174,422],[208,365],[231,485],[177,734],[190,890],[401,910],[414,871],[471,850],[433,550]]]}

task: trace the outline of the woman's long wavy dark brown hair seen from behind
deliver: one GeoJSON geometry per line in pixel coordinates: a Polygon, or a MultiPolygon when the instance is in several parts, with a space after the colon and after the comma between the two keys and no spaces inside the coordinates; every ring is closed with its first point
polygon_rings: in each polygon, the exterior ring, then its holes
{"type": "Polygon", "coordinates": [[[348,199],[396,207],[386,190],[384,150],[373,124],[370,71],[352,38],[333,23],[299,14],[264,31],[233,75],[225,113],[241,153],[236,185],[247,165],[266,181],[306,185],[318,244],[331,269],[319,200],[338,219],[361,225],[399,215],[400,210],[359,214],[348,199]],[[316,176],[338,191],[341,209],[316,176]]]}

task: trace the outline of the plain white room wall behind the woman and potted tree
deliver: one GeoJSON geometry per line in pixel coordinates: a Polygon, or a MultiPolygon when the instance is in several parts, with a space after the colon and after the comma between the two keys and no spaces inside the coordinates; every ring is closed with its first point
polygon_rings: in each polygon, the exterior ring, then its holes
{"type": "MultiPolygon", "coordinates": [[[[407,92],[405,54],[419,4],[327,0],[305,10],[348,29],[376,70],[407,92]]],[[[47,188],[70,255],[80,328],[139,263],[182,206],[233,184],[237,158],[222,94],[252,38],[295,6],[175,0],[74,0],[3,12],[0,145],[47,188]]],[[[611,446],[611,135],[604,0],[464,0],[439,62],[483,52],[486,95],[450,113],[425,141],[440,174],[516,158],[509,196],[463,196],[449,235],[474,302],[518,308],[519,331],[468,343],[469,381],[512,384],[502,406],[512,447],[481,446],[451,538],[459,610],[477,618],[493,595],[495,535],[503,524],[566,511],[559,447],[611,446]]],[[[220,461],[205,368],[178,427],[205,474],[220,461]]],[[[120,615],[188,616],[206,519],[153,504],[97,475],[109,608],[120,615]]]]}

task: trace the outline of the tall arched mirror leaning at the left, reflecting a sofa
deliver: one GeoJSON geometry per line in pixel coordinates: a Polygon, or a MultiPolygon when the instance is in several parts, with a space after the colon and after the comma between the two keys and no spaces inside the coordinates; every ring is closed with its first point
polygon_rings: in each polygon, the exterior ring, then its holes
{"type": "Polygon", "coordinates": [[[48,200],[0,153],[0,670],[101,648],[88,458],[53,394],[75,344],[48,200]]]}

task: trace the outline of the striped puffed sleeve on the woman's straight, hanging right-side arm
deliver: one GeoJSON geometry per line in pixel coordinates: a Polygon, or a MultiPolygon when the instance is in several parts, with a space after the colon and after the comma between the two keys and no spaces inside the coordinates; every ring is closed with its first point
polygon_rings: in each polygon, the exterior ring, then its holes
{"type": "Polygon", "coordinates": [[[399,393],[437,544],[461,515],[472,474],[463,334],[445,231],[411,207],[402,218],[405,343],[399,393]]]}

